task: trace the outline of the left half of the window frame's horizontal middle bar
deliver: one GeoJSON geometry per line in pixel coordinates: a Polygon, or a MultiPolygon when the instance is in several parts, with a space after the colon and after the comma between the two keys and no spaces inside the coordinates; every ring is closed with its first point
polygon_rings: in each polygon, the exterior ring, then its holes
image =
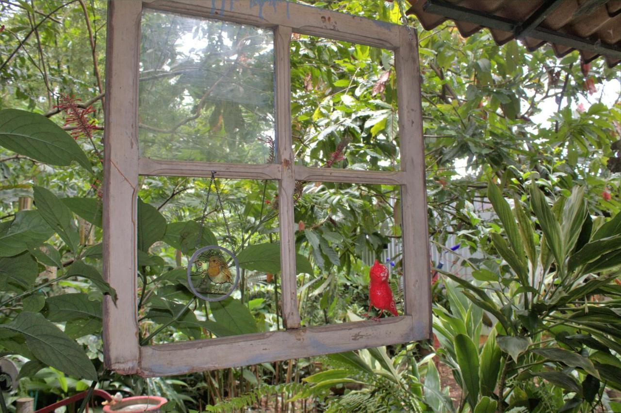
{"type": "Polygon", "coordinates": [[[160,161],[140,158],[140,175],[209,177],[211,171],[219,178],[234,179],[280,179],[281,167],[277,164],[224,164],[221,162],[160,161]]]}

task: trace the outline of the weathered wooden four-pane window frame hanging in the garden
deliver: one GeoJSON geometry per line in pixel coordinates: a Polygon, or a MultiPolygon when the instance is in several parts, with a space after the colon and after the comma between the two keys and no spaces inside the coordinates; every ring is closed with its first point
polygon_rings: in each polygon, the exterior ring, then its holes
{"type": "Polygon", "coordinates": [[[431,337],[425,159],[417,38],[406,27],[296,3],[218,1],[109,1],[104,149],[104,277],[118,294],[104,299],[106,368],[142,376],[286,360],[378,347],[431,337]],[[215,7],[214,7],[215,5],[215,7]],[[276,164],[160,161],[138,153],[138,61],[143,8],[226,20],[274,30],[276,164]],[[395,53],[401,170],[396,172],[297,166],[291,141],[291,33],[314,35],[392,50],[395,53]],[[278,180],[284,331],[160,345],[138,342],[138,175],[278,180]],[[295,181],[400,185],[404,315],[379,321],[300,327],[297,311],[295,181]]]}

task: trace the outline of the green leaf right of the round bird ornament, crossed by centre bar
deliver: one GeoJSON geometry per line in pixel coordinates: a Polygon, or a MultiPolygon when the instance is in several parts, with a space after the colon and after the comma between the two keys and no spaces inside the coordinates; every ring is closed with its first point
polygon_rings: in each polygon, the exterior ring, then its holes
{"type": "MultiPolygon", "coordinates": [[[[261,272],[280,272],[280,244],[271,242],[254,244],[243,249],[237,254],[240,267],[261,272]]],[[[312,265],[304,255],[296,254],[297,273],[312,274],[312,265]]]]}

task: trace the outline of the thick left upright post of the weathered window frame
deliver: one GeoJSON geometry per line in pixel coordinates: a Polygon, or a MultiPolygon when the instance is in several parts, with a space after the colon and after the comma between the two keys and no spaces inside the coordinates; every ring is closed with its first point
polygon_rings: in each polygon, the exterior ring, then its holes
{"type": "Polygon", "coordinates": [[[138,38],[142,3],[108,4],[104,135],[104,278],[117,302],[104,297],[104,362],[122,374],[138,371],[136,208],[138,186],[138,38]]]}

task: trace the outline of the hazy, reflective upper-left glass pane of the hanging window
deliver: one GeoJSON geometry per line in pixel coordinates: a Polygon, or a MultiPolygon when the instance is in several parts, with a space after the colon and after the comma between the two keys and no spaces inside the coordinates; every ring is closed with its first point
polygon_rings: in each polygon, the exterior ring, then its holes
{"type": "Polygon", "coordinates": [[[273,32],[145,11],[138,140],[153,159],[273,161],[273,32]]]}

